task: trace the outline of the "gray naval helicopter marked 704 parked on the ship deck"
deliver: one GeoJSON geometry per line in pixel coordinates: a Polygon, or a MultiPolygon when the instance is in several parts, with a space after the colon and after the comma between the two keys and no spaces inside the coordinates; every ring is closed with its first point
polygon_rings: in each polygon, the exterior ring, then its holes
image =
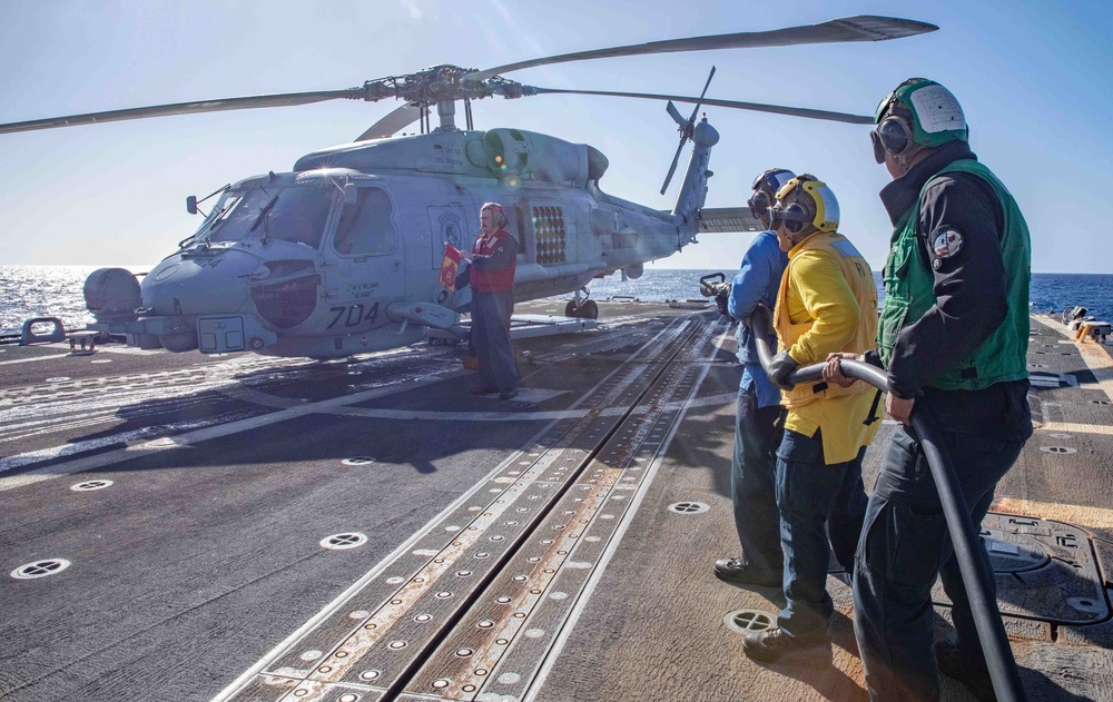
{"type": "MultiPolygon", "coordinates": [[[[328,358],[423,339],[430,328],[462,335],[460,314],[471,289],[439,284],[445,245],[470,248],[465,233],[484,201],[503,205],[519,243],[515,300],[573,293],[565,314],[595,318],[587,284],[615,271],[642,275],[700,231],[759,226],[745,208],[703,208],[711,148],[719,135],[700,106],[758,110],[854,125],[869,117],[700,97],[526,86],[502,73],[609,57],[880,41],[938,29],[905,19],[859,16],[774,31],[672,39],[553,56],[486,70],[436,66],[347,90],[226,98],[75,115],[0,125],[0,134],[218,110],[306,105],[324,100],[405,105],[354,142],[307,154],[289,172],[228,185],[198,200],[205,219],[178,249],[142,279],[102,268],[85,284],[97,318],[90,328],[125,335],[129,344],[204,354],[254,350],[273,356],[328,358]],[[472,100],[575,93],[668,100],[680,129],[663,195],[687,142],[693,145],[671,211],[607,195],[608,160],[595,148],[524,129],[475,130],[472,100]],[[695,103],[686,119],[673,105],[695,103]],[[466,128],[455,123],[462,102],[466,128]],[[440,126],[431,129],[435,106],[440,126]],[[394,137],[415,121],[421,134],[394,137]],[[207,214],[200,205],[216,197],[207,214]]],[[[715,69],[711,69],[711,76],[715,69]]]]}

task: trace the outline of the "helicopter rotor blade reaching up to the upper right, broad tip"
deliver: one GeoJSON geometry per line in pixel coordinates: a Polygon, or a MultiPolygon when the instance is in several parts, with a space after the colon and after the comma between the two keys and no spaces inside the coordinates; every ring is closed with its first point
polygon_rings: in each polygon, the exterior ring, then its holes
{"type": "Polygon", "coordinates": [[[916,20],[859,14],[856,17],[829,20],[827,22],[820,22],[819,24],[805,24],[802,27],[789,27],[771,31],[737,32],[732,34],[713,34],[710,37],[691,37],[688,39],[669,39],[666,41],[650,41],[628,47],[612,47],[610,49],[561,53],[559,56],[550,56],[541,59],[531,59],[529,61],[519,61],[516,63],[496,66],[486,70],[469,73],[464,76],[463,79],[467,81],[486,80],[493,76],[509,73],[510,71],[518,71],[525,68],[549,66],[552,63],[567,63],[569,61],[588,61],[591,59],[614,58],[620,56],[672,53],[677,51],[708,51],[711,49],[785,47],[800,43],[886,41],[888,39],[902,39],[904,37],[923,34],[937,29],[938,27],[935,24],[918,22],[916,20]]]}

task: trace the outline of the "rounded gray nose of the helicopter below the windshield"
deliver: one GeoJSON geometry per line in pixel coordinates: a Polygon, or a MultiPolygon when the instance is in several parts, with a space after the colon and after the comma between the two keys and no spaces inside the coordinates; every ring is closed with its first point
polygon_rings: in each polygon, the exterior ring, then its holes
{"type": "Polygon", "coordinates": [[[247,276],[258,259],[237,250],[171,256],[142,281],[142,305],[150,314],[211,315],[239,310],[247,301],[247,276]]]}

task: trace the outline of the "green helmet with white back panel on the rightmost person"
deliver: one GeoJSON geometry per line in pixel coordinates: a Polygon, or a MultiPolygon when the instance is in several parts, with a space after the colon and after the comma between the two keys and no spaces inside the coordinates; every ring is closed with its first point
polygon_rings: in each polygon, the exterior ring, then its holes
{"type": "Polygon", "coordinates": [[[926,78],[909,78],[885,96],[877,106],[874,121],[880,123],[889,115],[910,118],[912,140],[926,147],[948,141],[966,141],[969,127],[955,96],[926,78]]]}

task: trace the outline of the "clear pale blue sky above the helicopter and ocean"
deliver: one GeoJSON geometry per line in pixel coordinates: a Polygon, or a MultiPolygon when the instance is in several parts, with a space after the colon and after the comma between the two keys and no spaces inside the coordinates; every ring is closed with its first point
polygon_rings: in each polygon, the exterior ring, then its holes
{"type": "MultiPolygon", "coordinates": [[[[1016,196],[1037,273],[1113,273],[1113,49],[1094,2],[708,2],[661,0],[0,0],[0,122],[206,98],[348,88],[435,63],[487,68],[608,46],[814,23],[853,14],[933,22],[930,34],[604,59],[516,71],[554,88],[696,93],[871,113],[909,76],[962,102],[972,146],[1016,196]]],[[[0,265],[151,265],[199,220],[185,197],[354,139],[396,103],[336,101],[0,135],[0,265]]],[[[658,195],[677,135],[663,103],[542,96],[474,103],[476,127],[591,144],[604,190],[658,195]]],[[[879,269],[887,182],[867,127],[707,109],[721,134],[708,206],[743,205],[771,166],[839,198],[841,230],[879,269]]],[[[687,157],[684,157],[687,158],[687,157]]],[[[738,265],[748,235],[702,237],[661,267],[738,265]]]]}

